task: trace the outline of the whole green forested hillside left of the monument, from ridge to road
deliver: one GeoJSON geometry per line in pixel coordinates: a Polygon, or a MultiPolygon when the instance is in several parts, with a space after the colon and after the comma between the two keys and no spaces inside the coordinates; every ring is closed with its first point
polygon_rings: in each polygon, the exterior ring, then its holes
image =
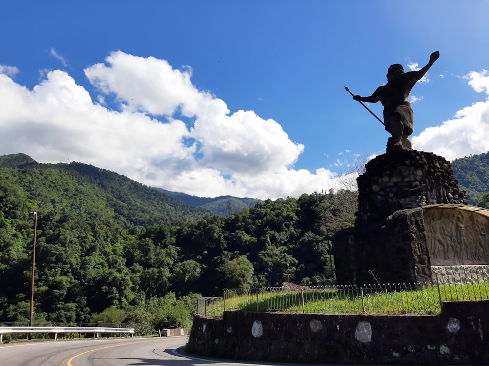
{"type": "Polygon", "coordinates": [[[153,319],[173,293],[320,283],[333,270],[329,237],[352,225],[355,209],[355,194],[342,191],[203,215],[93,166],[2,156],[0,323],[29,317],[33,211],[34,321],[79,322],[108,308],[126,321],[153,319]]]}

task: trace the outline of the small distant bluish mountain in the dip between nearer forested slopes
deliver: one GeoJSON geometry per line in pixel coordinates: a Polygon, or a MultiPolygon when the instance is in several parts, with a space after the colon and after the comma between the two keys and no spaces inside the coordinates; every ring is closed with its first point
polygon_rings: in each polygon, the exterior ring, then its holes
{"type": "Polygon", "coordinates": [[[190,194],[171,192],[164,190],[162,188],[156,188],[157,190],[168,194],[170,197],[174,197],[186,203],[187,205],[193,207],[200,207],[210,212],[222,215],[229,216],[235,213],[238,213],[245,208],[254,207],[258,202],[263,202],[262,200],[256,198],[239,198],[233,196],[219,196],[215,198],[209,197],[197,197],[190,194]]]}

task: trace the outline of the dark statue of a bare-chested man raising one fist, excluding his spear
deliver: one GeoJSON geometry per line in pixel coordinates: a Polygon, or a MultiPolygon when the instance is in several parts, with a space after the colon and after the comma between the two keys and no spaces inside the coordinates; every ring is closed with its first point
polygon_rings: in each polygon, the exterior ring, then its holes
{"type": "Polygon", "coordinates": [[[413,133],[413,109],[409,103],[409,93],[433,63],[440,57],[440,52],[435,51],[429,57],[426,66],[418,71],[404,73],[400,64],[394,64],[387,71],[387,84],[379,86],[370,97],[355,95],[353,99],[360,102],[377,103],[384,106],[384,123],[387,132],[392,135],[387,142],[390,147],[411,150],[411,141],[407,138],[413,133]]]}

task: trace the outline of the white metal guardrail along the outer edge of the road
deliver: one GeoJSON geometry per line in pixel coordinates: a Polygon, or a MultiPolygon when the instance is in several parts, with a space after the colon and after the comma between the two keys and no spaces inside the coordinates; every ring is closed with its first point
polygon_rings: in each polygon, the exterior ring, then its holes
{"type": "Polygon", "coordinates": [[[128,333],[134,334],[134,328],[106,328],[86,326],[0,326],[0,344],[4,334],[14,333],[54,333],[54,339],[58,339],[58,333],[128,333]]]}

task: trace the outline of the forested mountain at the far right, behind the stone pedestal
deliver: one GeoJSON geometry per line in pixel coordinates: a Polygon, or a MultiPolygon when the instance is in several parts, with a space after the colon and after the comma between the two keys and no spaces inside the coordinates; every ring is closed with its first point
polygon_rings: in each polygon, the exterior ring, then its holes
{"type": "Polygon", "coordinates": [[[451,165],[453,175],[467,191],[468,204],[477,205],[489,192],[489,152],[455,159],[451,165]]]}

